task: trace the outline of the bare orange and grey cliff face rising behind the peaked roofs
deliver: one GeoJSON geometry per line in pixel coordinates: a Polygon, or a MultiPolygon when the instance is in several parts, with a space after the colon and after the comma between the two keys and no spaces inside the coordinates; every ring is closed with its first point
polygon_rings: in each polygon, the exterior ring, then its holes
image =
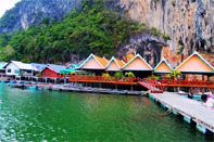
{"type": "MultiPolygon", "coordinates": [[[[214,1],[213,0],[121,0],[131,18],[156,27],[168,34],[171,40],[164,46],[160,40],[144,36],[130,39],[128,54],[136,52],[154,66],[165,57],[173,67],[194,50],[214,65],[214,1]]],[[[124,54],[123,54],[124,55],[124,54]]]]}

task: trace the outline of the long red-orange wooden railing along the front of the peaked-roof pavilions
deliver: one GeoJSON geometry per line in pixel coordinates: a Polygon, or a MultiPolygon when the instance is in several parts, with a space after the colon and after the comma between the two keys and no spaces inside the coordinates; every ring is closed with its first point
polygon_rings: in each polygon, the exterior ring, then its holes
{"type": "Polygon", "coordinates": [[[87,76],[87,75],[73,75],[68,77],[68,81],[86,81],[86,82],[109,82],[109,83],[127,83],[134,85],[138,81],[147,82],[148,88],[158,88],[163,90],[164,87],[209,87],[214,88],[214,81],[202,80],[175,80],[175,79],[149,79],[149,78],[116,78],[116,77],[103,77],[103,76],[87,76]]]}

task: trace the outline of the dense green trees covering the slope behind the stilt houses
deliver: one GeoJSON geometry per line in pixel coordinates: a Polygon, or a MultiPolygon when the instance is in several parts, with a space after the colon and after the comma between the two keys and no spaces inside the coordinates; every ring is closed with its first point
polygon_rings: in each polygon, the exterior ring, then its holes
{"type": "Polygon", "coordinates": [[[60,21],[46,17],[38,26],[1,34],[0,61],[48,63],[71,61],[71,54],[115,55],[141,25],[109,8],[100,0],[85,0],[60,21]]]}

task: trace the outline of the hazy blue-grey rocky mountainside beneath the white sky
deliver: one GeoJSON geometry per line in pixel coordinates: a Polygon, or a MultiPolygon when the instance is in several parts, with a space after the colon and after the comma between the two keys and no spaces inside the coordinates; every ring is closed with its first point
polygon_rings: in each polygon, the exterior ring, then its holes
{"type": "Polygon", "coordinates": [[[22,0],[0,18],[0,33],[27,29],[45,17],[61,18],[79,5],[81,0],[22,0]]]}

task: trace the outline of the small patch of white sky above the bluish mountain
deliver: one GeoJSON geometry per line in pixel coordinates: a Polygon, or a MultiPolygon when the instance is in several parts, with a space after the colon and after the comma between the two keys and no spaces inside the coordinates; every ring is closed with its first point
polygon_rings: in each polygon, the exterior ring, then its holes
{"type": "Polygon", "coordinates": [[[21,0],[0,0],[0,17],[7,10],[12,9],[21,0]]]}

